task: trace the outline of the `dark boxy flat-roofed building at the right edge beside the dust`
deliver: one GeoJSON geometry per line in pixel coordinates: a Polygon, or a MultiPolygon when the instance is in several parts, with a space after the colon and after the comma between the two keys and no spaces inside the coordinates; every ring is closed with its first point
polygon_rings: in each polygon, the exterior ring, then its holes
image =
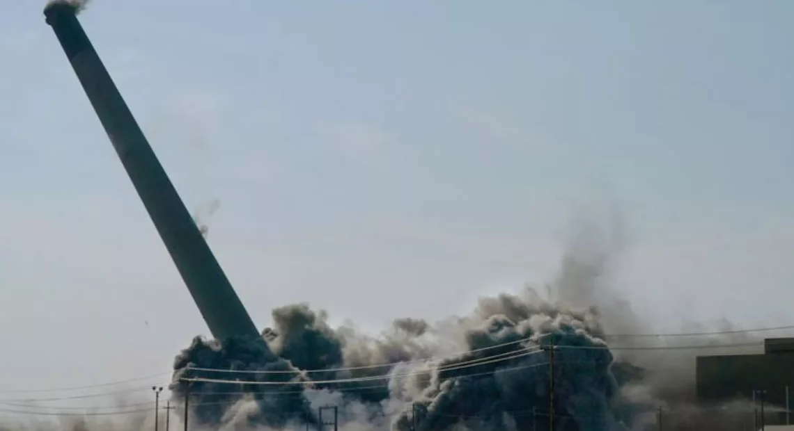
{"type": "Polygon", "coordinates": [[[785,411],[794,403],[794,338],[766,338],[763,354],[697,357],[696,374],[699,399],[754,399],[767,407],[767,425],[794,423],[785,411]]]}

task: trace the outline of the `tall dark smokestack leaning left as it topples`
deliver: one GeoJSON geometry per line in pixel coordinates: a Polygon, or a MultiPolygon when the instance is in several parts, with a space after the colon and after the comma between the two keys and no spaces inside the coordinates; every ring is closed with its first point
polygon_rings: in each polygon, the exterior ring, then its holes
{"type": "Polygon", "coordinates": [[[118,93],[76,13],[73,4],[63,1],[44,9],[47,24],[64,48],[198,311],[215,338],[258,338],[259,331],[118,93]]]}

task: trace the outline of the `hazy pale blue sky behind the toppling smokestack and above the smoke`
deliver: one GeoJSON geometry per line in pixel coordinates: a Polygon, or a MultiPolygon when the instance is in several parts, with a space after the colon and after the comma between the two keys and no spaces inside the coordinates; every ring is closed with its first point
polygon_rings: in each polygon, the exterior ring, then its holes
{"type": "MultiPolygon", "coordinates": [[[[206,325],[43,5],[8,3],[2,386],[168,372],[206,325]]],[[[220,5],[80,20],[258,326],[466,313],[604,214],[654,327],[794,324],[794,3],[220,5]]]]}

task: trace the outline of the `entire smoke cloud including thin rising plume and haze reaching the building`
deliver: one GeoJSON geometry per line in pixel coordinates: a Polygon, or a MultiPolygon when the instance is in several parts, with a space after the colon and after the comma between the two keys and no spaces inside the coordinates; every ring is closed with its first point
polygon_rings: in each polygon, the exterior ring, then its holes
{"type": "Polygon", "coordinates": [[[580,231],[555,301],[527,287],[481,298],[463,317],[399,319],[378,336],[330,326],[308,304],[277,308],[261,340],[195,338],[171,389],[178,402],[190,391],[198,423],[224,429],[317,429],[333,418],[350,431],[549,429],[553,415],[555,429],[613,431],[656,427],[660,408],[676,411],[669,429],[743,428],[746,402],[692,397],[695,357],[707,350],[667,348],[749,336],[621,335],[649,328],[609,288],[619,242],[580,231]]]}

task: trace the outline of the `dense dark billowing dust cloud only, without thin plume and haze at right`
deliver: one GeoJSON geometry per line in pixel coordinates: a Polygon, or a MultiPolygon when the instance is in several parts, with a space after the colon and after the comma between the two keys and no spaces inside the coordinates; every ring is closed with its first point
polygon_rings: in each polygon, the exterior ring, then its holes
{"type": "Polygon", "coordinates": [[[199,421],[297,426],[332,403],[341,423],[363,429],[410,429],[414,415],[428,429],[526,429],[552,408],[543,349],[556,346],[555,414],[620,429],[610,407],[619,387],[598,315],[557,309],[531,289],[482,299],[454,325],[401,319],[378,338],[332,328],[306,304],[273,311],[273,321],[263,338],[280,360],[269,360],[256,341],[200,338],[177,357],[175,395],[188,390],[180,379],[209,380],[190,383],[199,421]],[[454,344],[464,353],[449,355],[454,344]],[[212,381],[236,379],[268,384],[212,381]],[[285,384],[269,384],[276,382],[285,384]],[[241,413],[241,404],[256,408],[241,413]]]}

